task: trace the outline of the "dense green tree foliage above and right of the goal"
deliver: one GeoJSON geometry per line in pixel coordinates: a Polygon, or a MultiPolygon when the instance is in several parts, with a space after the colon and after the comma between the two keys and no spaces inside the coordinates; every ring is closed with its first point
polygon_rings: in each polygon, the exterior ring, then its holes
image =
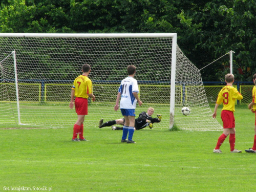
{"type": "MultiPolygon", "coordinates": [[[[254,0],[3,0],[0,32],[178,33],[178,44],[198,69],[234,51],[237,80],[256,73],[254,0]],[[238,71],[240,70],[240,71],[238,71]]],[[[204,81],[222,78],[226,56],[202,70],[204,81]]]]}

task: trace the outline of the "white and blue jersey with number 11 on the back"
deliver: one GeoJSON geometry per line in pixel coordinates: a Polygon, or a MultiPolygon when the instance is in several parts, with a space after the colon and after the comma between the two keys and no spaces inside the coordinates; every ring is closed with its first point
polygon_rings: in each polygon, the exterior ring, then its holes
{"type": "Polygon", "coordinates": [[[135,109],[137,99],[133,93],[139,93],[138,82],[133,77],[126,77],[122,80],[121,85],[118,89],[121,93],[120,109],[135,109]]]}

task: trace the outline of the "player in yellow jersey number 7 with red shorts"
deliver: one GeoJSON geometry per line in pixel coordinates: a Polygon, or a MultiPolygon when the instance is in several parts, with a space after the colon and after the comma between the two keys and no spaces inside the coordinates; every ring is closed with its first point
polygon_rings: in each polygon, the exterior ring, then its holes
{"type": "Polygon", "coordinates": [[[77,113],[77,121],[73,127],[73,138],[72,141],[88,141],[83,137],[83,121],[84,116],[88,114],[88,98],[90,97],[92,101],[95,101],[95,96],[93,95],[92,81],[88,78],[91,72],[91,66],[84,64],[82,66],[82,75],[79,75],[73,83],[71,90],[71,98],[69,108],[73,109],[74,97],[75,97],[75,109],[77,113]],[[77,135],[79,134],[79,139],[77,135]]]}

